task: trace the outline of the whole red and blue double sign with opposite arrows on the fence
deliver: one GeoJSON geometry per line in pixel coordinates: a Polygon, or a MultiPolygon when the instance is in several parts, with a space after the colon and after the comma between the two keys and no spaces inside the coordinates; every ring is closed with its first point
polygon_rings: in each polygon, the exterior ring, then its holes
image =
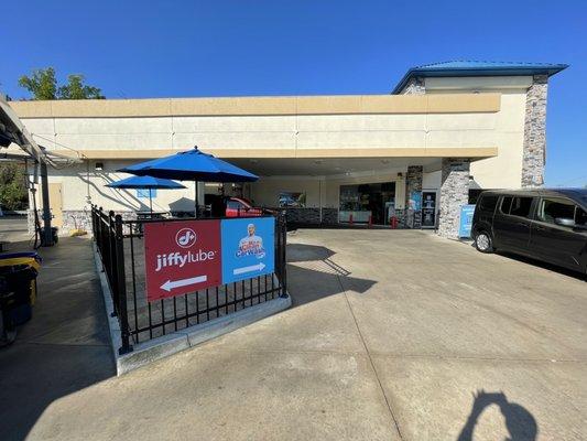
{"type": "Polygon", "coordinates": [[[150,302],[274,270],[273,217],[144,224],[150,302]]]}

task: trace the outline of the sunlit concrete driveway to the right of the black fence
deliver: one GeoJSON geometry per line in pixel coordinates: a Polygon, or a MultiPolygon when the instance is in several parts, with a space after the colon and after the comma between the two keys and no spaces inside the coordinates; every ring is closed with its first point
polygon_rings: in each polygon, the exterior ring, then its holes
{"type": "Polygon", "coordinates": [[[298,230],[294,306],[53,401],[31,440],[580,440],[587,283],[425,232],[298,230]]]}

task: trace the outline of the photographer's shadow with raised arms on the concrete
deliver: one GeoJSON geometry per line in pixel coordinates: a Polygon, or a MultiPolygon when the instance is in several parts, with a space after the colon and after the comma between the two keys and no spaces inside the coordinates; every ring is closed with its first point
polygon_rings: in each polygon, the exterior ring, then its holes
{"type": "Polygon", "coordinates": [[[478,390],[472,395],[475,400],[472,402],[472,409],[467,419],[467,422],[457,441],[472,441],[472,433],[475,426],[477,424],[482,411],[491,406],[497,405],[506,419],[506,427],[510,437],[506,438],[508,441],[535,441],[539,432],[537,423],[532,413],[530,413],[524,407],[508,401],[506,394],[503,392],[486,392],[485,390],[478,390]]]}

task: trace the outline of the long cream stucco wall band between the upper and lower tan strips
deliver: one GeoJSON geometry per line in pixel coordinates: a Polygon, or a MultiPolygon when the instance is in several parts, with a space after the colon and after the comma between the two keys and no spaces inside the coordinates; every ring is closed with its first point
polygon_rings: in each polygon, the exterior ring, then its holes
{"type": "MultiPolygon", "coordinates": [[[[501,123],[504,122],[500,114],[42,118],[23,121],[41,143],[61,152],[68,147],[84,153],[98,151],[123,158],[139,151],[185,150],[197,144],[224,157],[235,157],[238,150],[238,157],[244,158],[304,155],[305,151],[320,158],[355,155],[355,149],[431,149],[433,152],[436,148],[499,148],[503,131],[501,123]]],[[[421,152],[416,154],[421,155],[421,152]]],[[[366,152],[366,155],[371,154],[366,152]]]]}

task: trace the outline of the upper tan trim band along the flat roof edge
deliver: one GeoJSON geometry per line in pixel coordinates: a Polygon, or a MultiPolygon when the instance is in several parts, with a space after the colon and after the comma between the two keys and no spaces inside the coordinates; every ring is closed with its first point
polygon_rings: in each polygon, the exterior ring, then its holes
{"type": "Polygon", "coordinates": [[[330,95],[11,101],[20,118],[497,112],[501,94],[330,95]]]}

